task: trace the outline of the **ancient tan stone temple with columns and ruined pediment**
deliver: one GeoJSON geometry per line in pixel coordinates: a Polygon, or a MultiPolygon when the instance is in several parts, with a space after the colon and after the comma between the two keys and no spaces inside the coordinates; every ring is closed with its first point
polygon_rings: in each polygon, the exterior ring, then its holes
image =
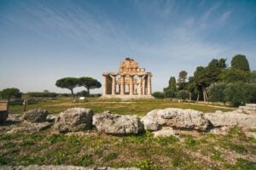
{"type": "Polygon", "coordinates": [[[140,68],[136,61],[126,58],[119,71],[103,73],[102,98],[150,99],[151,72],[140,68]]]}

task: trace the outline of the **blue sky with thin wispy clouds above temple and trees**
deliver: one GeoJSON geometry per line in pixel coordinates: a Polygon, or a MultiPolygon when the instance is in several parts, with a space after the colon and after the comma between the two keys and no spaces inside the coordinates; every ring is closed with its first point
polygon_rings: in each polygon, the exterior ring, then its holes
{"type": "Polygon", "coordinates": [[[58,78],[102,82],[125,57],[153,73],[153,91],[212,58],[245,54],[256,70],[255,11],[254,0],[0,0],[0,89],[68,93],[58,78]]]}

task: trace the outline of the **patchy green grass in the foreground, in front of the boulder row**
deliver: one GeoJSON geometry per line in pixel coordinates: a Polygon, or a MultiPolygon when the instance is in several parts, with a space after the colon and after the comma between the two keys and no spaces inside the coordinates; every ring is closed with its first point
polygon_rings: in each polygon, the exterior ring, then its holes
{"type": "Polygon", "coordinates": [[[227,135],[201,133],[198,138],[181,135],[180,139],[154,138],[150,132],[123,137],[49,134],[47,130],[40,134],[0,133],[0,165],[65,164],[141,169],[242,169],[245,166],[253,169],[252,160],[237,158],[232,163],[225,156],[224,150],[247,156],[255,154],[255,144],[240,138],[240,133],[237,127],[227,135]],[[211,162],[191,153],[201,153],[211,162]]]}

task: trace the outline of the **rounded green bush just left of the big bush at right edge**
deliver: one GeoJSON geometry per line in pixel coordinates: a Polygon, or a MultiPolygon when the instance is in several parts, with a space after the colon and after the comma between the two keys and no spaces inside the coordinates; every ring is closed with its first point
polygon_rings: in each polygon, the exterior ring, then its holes
{"type": "Polygon", "coordinates": [[[227,84],[212,84],[208,88],[208,95],[210,101],[220,101],[225,102],[224,89],[227,87],[227,84]]]}

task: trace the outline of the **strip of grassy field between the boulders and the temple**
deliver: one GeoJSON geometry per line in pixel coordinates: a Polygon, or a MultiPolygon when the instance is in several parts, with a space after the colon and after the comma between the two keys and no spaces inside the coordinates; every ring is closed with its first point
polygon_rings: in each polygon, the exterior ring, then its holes
{"type": "MultiPolygon", "coordinates": [[[[23,112],[23,105],[10,105],[10,113],[20,114],[23,112]]],[[[87,102],[74,103],[73,99],[54,99],[47,101],[40,101],[27,105],[26,110],[30,109],[46,109],[50,114],[57,114],[61,111],[67,110],[70,107],[84,107],[90,108],[94,112],[112,111],[120,115],[139,115],[143,116],[154,109],[163,108],[182,108],[182,109],[194,109],[203,112],[214,112],[214,111],[230,111],[231,108],[218,108],[210,105],[196,105],[189,103],[179,103],[170,99],[141,99],[141,100],[130,100],[122,102],[120,99],[89,99],[87,102]]]]}

